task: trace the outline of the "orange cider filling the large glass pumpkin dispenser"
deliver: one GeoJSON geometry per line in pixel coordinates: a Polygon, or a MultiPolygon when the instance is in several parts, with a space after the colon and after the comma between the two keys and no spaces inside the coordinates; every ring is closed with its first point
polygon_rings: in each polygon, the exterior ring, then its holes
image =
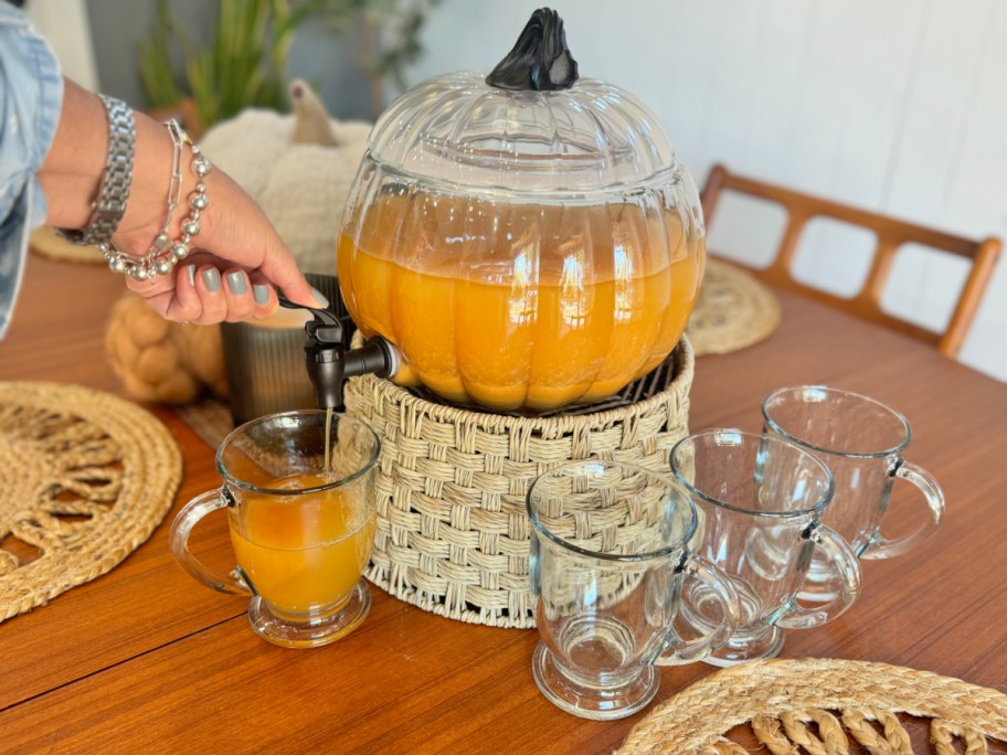
{"type": "Polygon", "coordinates": [[[594,402],[646,374],[702,279],[701,234],[628,203],[389,193],[346,228],[342,295],[364,336],[402,351],[395,382],[497,411],[594,402]]]}

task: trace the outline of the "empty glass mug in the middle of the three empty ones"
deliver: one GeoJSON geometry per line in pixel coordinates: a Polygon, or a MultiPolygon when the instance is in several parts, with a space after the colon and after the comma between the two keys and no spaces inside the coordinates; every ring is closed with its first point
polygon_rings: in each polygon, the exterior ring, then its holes
{"type": "Polygon", "coordinates": [[[770,435],[709,429],[679,440],[670,462],[699,513],[696,552],[720,567],[738,594],[738,630],[708,663],[773,658],[783,629],[816,627],[850,607],[860,566],[849,544],[822,524],[833,478],[814,455],[770,435]],[[796,598],[815,552],[841,589],[807,609],[796,598]]]}

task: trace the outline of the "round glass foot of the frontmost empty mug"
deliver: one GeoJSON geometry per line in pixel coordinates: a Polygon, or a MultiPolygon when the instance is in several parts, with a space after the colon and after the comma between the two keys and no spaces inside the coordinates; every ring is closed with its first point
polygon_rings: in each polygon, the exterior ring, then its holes
{"type": "Polygon", "coordinates": [[[568,713],[593,721],[633,715],[654,700],[660,685],[660,672],[653,666],[642,666],[640,674],[622,687],[580,684],[563,673],[544,642],[539,642],[534,649],[531,672],[549,702],[568,713]]]}

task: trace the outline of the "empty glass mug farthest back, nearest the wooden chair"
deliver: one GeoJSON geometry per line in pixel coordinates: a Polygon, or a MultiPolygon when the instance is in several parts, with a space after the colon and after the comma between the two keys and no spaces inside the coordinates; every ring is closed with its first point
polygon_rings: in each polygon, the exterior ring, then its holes
{"type": "MultiPolygon", "coordinates": [[[[944,492],[930,472],[902,458],[912,429],[898,412],[848,391],[804,385],[773,391],[762,402],[762,417],[765,432],[797,444],[828,466],[836,492],[823,519],[861,559],[905,553],[941,523],[944,492]],[[888,539],[881,534],[881,523],[897,479],[915,486],[926,506],[913,512],[915,529],[888,539]]],[[[827,571],[813,560],[802,599],[833,595],[827,571]]]]}

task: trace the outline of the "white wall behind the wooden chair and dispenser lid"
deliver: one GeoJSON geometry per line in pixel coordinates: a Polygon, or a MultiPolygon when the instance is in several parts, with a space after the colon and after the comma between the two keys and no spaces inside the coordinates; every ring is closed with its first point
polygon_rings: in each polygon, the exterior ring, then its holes
{"type": "MultiPolygon", "coordinates": [[[[460,68],[488,72],[540,4],[443,0],[427,21],[426,53],[410,82],[460,68]]],[[[647,103],[697,184],[722,161],[962,235],[1007,238],[1007,2],[568,0],[552,7],[564,19],[581,75],[647,103]]],[[[714,224],[710,246],[757,260],[772,247],[765,235],[775,226],[773,213],[759,210],[725,196],[724,222],[714,224]],[[729,214],[744,220],[729,225],[729,214]]],[[[827,225],[808,228],[798,274],[848,294],[866,274],[870,237],[827,225]]],[[[894,275],[886,308],[943,327],[963,279],[960,266],[908,248],[894,275]]],[[[1007,381],[1007,258],[961,360],[1007,381]]]]}

